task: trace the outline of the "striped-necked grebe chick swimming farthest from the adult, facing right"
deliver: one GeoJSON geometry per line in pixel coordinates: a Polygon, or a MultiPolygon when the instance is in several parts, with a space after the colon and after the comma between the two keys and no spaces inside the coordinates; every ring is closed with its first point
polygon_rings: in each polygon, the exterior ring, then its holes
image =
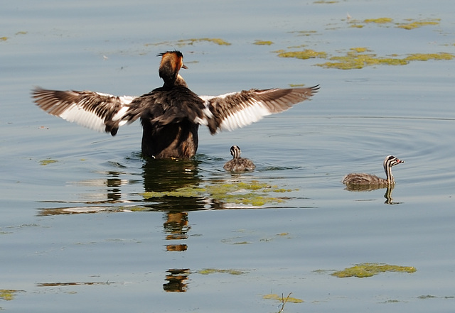
{"type": "Polygon", "coordinates": [[[351,173],[343,178],[343,184],[346,185],[375,185],[375,186],[390,186],[395,184],[392,175],[392,166],[405,161],[395,158],[393,155],[387,155],[384,160],[384,171],[387,178],[381,178],[376,175],[365,173],[351,173]]]}

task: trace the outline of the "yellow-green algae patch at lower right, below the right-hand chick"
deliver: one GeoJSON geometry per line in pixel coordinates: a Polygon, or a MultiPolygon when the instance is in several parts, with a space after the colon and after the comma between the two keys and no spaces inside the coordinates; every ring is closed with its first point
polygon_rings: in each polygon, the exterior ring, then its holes
{"type": "Polygon", "coordinates": [[[360,263],[354,265],[351,268],[338,270],[337,272],[332,273],[331,275],[338,278],[347,277],[365,278],[385,272],[414,273],[415,271],[416,269],[413,268],[412,266],[399,266],[382,263],[360,263]]]}

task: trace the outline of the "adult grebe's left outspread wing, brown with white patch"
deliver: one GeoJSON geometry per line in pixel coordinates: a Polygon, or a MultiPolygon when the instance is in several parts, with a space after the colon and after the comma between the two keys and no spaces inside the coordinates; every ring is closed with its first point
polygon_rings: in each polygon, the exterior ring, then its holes
{"type": "Polygon", "coordinates": [[[95,131],[111,133],[112,136],[115,136],[119,126],[132,123],[139,117],[137,114],[129,114],[129,105],[137,97],[41,88],[34,89],[32,97],[36,104],[49,114],[95,131]]]}

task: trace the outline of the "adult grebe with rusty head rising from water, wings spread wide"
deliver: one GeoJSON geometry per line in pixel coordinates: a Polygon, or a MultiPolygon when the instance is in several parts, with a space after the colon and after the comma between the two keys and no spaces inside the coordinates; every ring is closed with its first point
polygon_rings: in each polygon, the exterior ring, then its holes
{"type": "Polygon", "coordinates": [[[198,149],[198,128],[210,133],[232,131],[285,111],[309,99],[319,86],[291,89],[250,89],[220,96],[198,96],[178,74],[183,65],[179,51],[160,53],[159,87],[141,97],[89,91],[57,91],[36,88],[36,104],[49,114],[111,133],[141,118],[142,154],[151,158],[191,158],[198,149]]]}

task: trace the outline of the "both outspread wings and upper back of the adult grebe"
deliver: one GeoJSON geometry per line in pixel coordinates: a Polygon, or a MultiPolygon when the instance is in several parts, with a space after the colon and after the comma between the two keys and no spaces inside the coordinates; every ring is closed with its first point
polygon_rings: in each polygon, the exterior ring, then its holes
{"type": "Polygon", "coordinates": [[[141,97],[89,91],[58,91],[36,88],[36,104],[49,114],[79,123],[112,136],[118,128],[139,117],[166,125],[183,119],[207,125],[210,133],[232,131],[250,125],[264,116],[286,111],[309,99],[319,86],[291,89],[250,89],[220,96],[198,96],[186,87],[155,89],[141,97]],[[161,92],[165,91],[165,92],[161,92]]]}

